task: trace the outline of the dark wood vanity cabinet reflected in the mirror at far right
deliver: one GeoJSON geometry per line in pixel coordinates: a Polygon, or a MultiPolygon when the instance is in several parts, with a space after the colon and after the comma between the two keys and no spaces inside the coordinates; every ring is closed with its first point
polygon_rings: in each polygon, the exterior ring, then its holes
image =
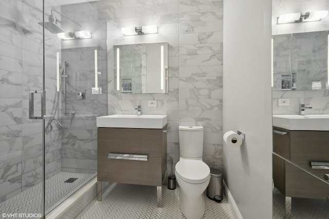
{"type": "MultiPolygon", "coordinates": [[[[291,131],[273,127],[273,152],[323,179],[328,169],[312,169],[311,162],[329,162],[329,131],[291,131]]],[[[329,197],[329,185],[273,155],[273,181],[285,196],[329,197]]]]}

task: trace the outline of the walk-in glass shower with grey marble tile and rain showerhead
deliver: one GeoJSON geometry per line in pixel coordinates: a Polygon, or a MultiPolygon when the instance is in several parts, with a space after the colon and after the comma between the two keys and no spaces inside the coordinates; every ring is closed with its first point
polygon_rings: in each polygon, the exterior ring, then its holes
{"type": "MultiPolygon", "coordinates": [[[[95,63],[107,63],[101,56],[106,55],[106,21],[98,19],[95,4],[77,2],[1,3],[2,215],[31,213],[44,218],[96,175],[96,117],[106,115],[107,98],[106,89],[92,94],[92,88],[95,63]],[[97,16],[88,20],[86,14],[97,16]],[[99,36],[66,41],[57,35],[83,30],[97,30],[99,36]]],[[[98,71],[105,73],[106,66],[98,66],[98,71]]],[[[107,84],[106,76],[102,79],[107,84]]]]}

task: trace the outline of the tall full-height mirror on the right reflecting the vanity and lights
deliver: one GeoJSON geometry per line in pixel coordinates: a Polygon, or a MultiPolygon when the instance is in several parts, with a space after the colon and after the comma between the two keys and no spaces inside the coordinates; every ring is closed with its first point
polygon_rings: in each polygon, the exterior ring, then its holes
{"type": "Polygon", "coordinates": [[[328,11],[272,1],[273,218],[329,215],[328,11]]]}

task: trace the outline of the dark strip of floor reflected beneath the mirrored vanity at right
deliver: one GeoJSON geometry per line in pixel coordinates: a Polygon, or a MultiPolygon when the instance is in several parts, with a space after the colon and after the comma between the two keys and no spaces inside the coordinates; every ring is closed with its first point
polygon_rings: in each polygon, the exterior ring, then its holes
{"type": "MultiPolygon", "coordinates": [[[[275,189],[273,191],[273,217],[284,218],[284,195],[275,189]]],[[[327,219],[329,218],[329,203],[326,200],[312,198],[291,198],[291,219],[327,219]]]]}

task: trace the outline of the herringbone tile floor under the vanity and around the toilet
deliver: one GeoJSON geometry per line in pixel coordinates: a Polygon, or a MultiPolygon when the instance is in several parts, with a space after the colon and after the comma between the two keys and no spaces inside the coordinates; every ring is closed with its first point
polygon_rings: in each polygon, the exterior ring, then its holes
{"type": "MultiPolygon", "coordinates": [[[[186,218],[179,208],[179,187],[169,190],[162,186],[162,208],[157,208],[156,203],[155,186],[113,183],[103,193],[103,201],[95,198],[76,218],[186,218]]],[[[225,197],[221,203],[216,203],[205,194],[205,203],[202,218],[234,218],[225,197]]]]}

